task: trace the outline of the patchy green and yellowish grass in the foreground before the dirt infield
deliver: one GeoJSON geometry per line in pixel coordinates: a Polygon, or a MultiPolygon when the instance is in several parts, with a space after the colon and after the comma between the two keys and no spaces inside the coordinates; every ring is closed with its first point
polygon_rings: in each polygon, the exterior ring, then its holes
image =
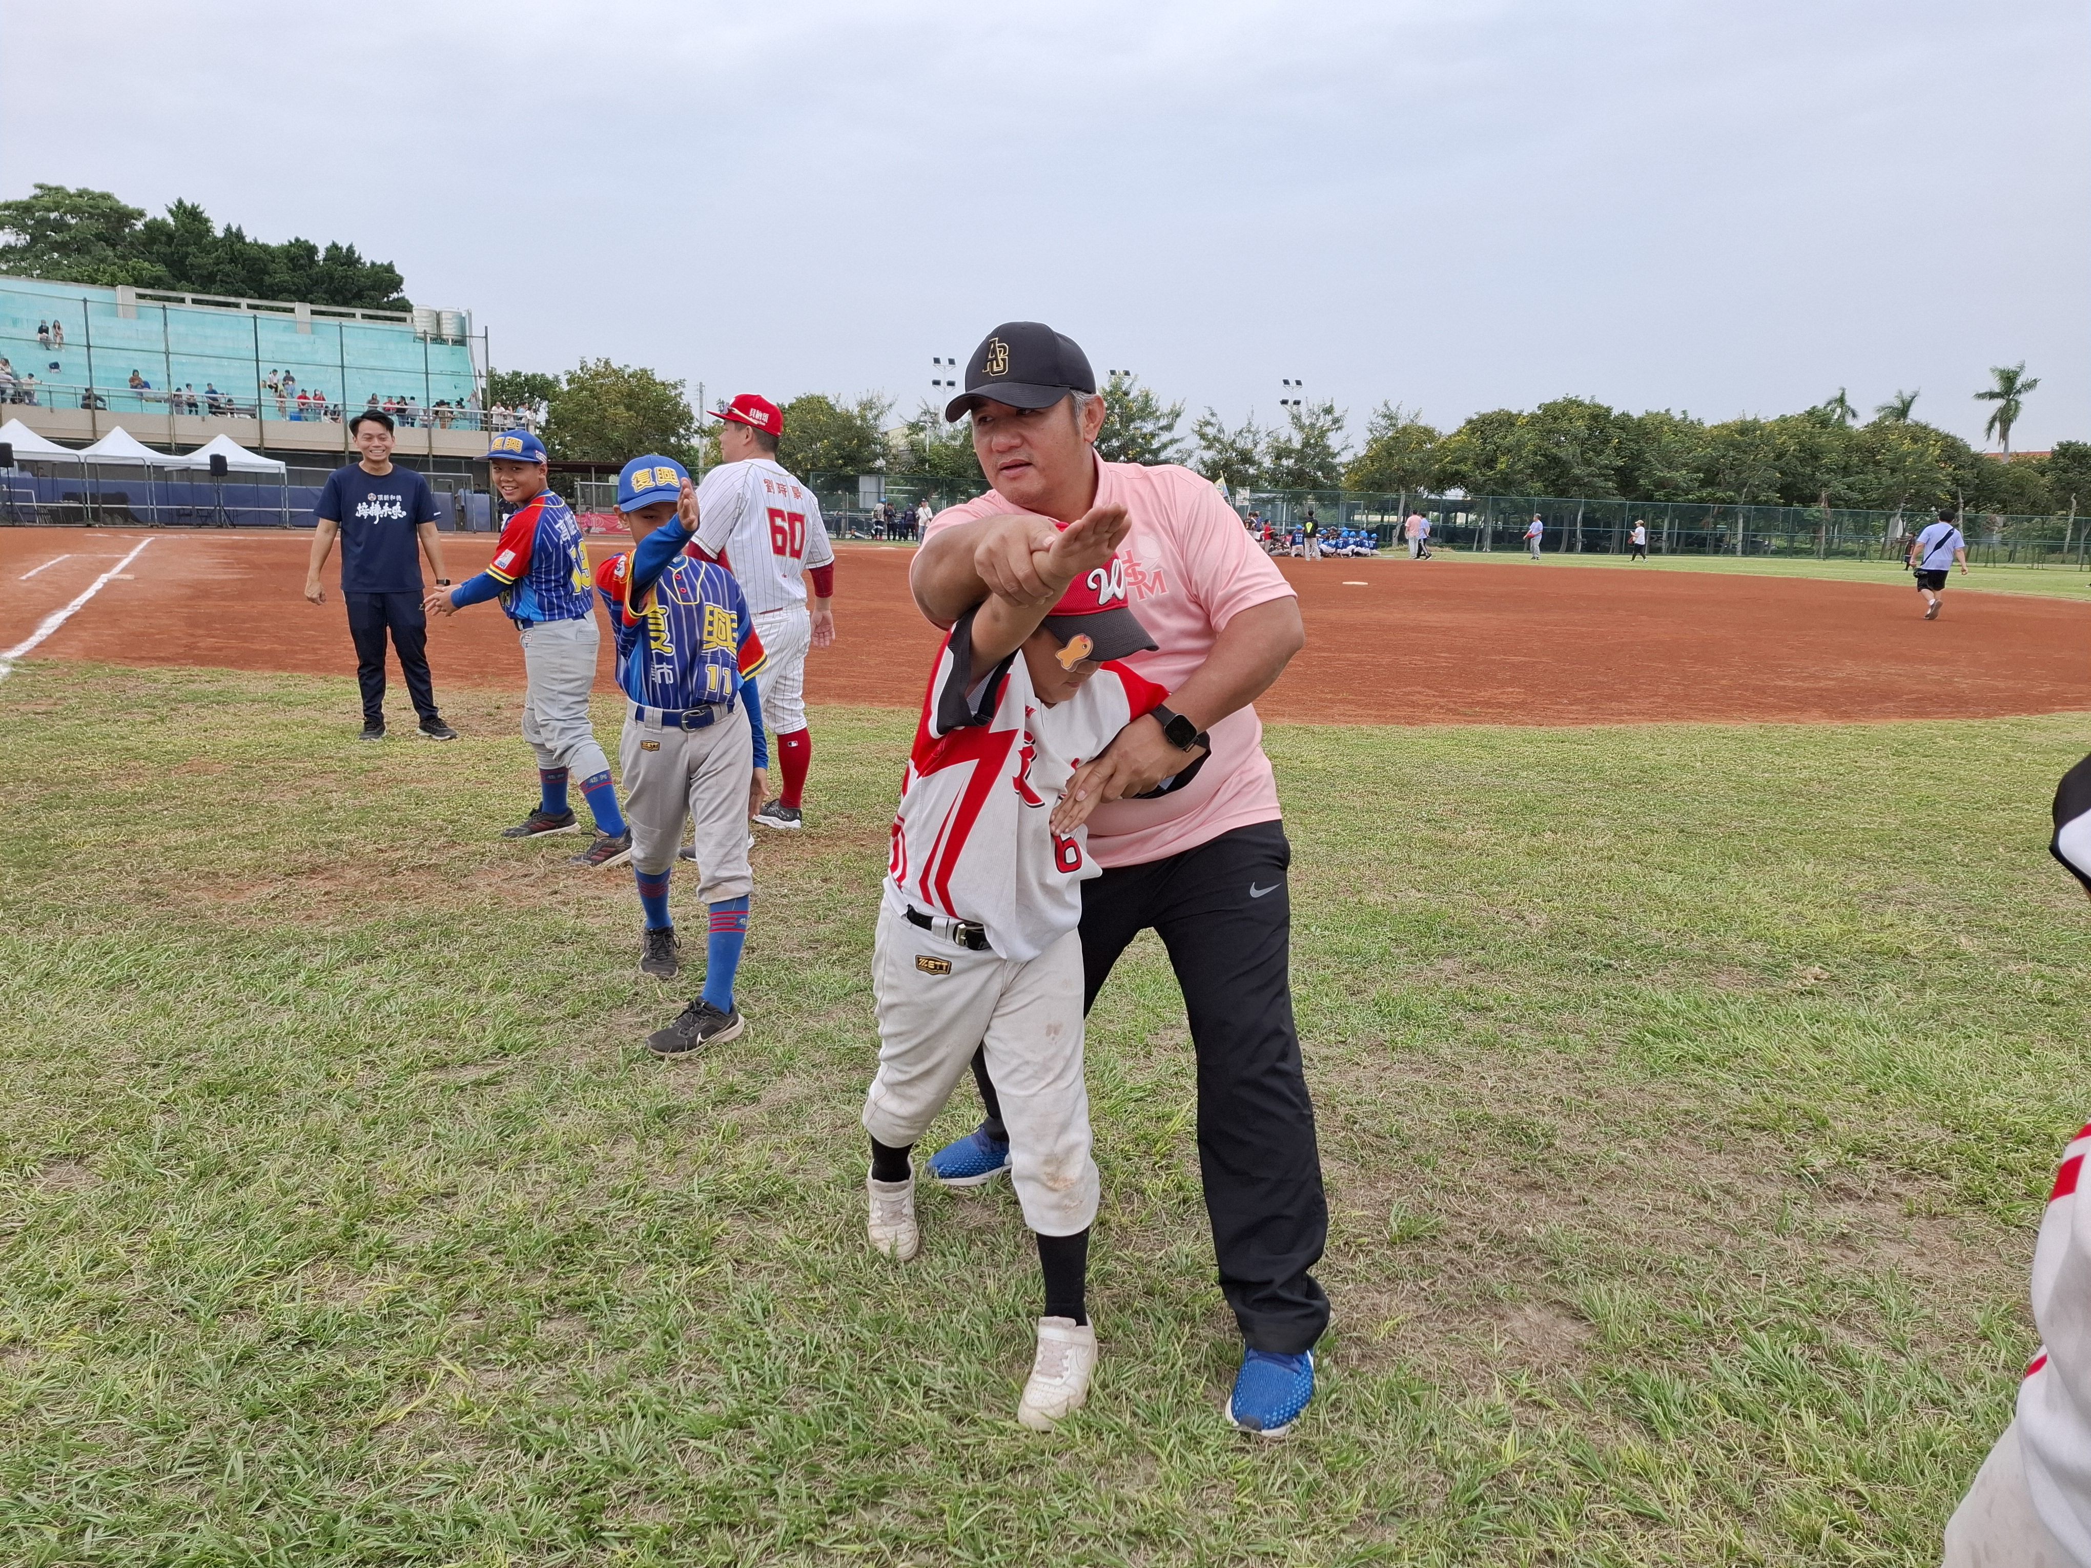
{"type": "Polygon", "coordinates": [[[1092,1018],[1087,1411],[1012,1420],[1006,1187],[864,1246],[910,715],[815,713],[749,1033],[663,1066],[694,978],[496,836],[512,698],[445,711],[0,684],[0,1562],[1936,1562],[2087,1112],[2085,717],[1273,730],[1336,1321],[1259,1445],[1152,939],[1092,1018]]]}

